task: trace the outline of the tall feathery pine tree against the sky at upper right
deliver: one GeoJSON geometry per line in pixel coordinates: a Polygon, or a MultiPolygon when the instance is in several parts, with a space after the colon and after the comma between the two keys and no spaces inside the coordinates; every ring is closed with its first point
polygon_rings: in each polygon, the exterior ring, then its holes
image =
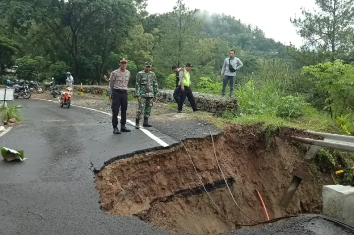
{"type": "MultiPolygon", "coordinates": [[[[330,51],[332,62],[347,58],[354,48],[354,2],[352,0],[316,0],[320,12],[301,8],[305,19],[290,19],[298,34],[307,40],[308,47],[330,51]]],[[[354,58],[351,58],[354,60],[354,58]]]]}

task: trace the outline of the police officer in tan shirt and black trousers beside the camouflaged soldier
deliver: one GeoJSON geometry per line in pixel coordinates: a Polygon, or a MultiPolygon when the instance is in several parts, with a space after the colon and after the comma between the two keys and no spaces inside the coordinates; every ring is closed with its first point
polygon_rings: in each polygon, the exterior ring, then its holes
{"type": "Polygon", "coordinates": [[[128,108],[128,82],[130,72],[126,69],[128,60],[124,57],[119,60],[119,69],[111,72],[109,76],[109,96],[112,101],[112,125],[113,133],[121,134],[121,132],[130,132],[131,130],[125,127],[126,109],[128,108]],[[120,131],[118,130],[118,113],[120,108],[120,131]]]}

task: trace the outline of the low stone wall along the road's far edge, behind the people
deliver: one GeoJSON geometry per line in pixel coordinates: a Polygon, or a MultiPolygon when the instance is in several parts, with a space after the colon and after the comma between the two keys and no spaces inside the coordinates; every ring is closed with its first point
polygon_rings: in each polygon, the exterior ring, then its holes
{"type": "MultiPolygon", "coordinates": [[[[63,86],[60,86],[63,87],[63,86]]],[[[73,89],[75,91],[80,91],[80,86],[74,85],[73,89]]],[[[91,93],[96,95],[102,95],[108,92],[108,86],[83,86],[83,93],[91,93]]],[[[135,88],[128,88],[129,94],[134,94],[135,88]]],[[[175,102],[173,99],[173,90],[160,90],[159,91],[159,101],[160,102],[175,102]]],[[[222,99],[220,96],[215,96],[212,94],[205,94],[199,92],[193,92],[195,102],[203,111],[212,113],[222,113],[227,110],[237,109],[237,99],[222,99]]],[[[188,99],[186,99],[186,105],[191,106],[188,99]]]]}

